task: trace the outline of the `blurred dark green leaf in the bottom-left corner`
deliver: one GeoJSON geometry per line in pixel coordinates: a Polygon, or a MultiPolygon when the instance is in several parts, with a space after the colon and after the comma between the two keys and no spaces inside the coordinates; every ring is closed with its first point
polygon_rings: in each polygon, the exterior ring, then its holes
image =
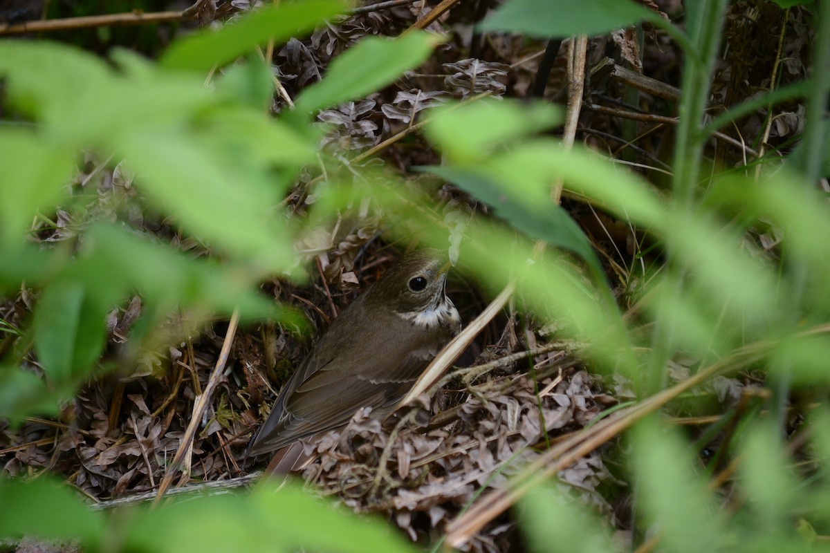
{"type": "Polygon", "coordinates": [[[94,546],[107,521],[91,512],[75,492],[49,478],[23,483],[0,479],[0,538],[80,538],[94,546]]]}

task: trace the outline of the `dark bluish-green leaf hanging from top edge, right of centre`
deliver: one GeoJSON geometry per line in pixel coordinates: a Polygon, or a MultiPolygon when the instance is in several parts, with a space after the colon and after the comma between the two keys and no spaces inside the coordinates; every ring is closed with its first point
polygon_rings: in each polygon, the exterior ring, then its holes
{"type": "Polygon", "coordinates": [[[601,35],[648,16],[646,8],[629,0],[508,0],[480,27],[482,31],[564,38],[601,35]]]}

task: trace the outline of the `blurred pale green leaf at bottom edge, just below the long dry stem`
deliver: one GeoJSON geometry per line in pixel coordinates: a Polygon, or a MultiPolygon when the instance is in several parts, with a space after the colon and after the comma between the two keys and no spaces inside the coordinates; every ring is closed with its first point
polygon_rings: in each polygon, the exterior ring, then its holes
{"type": "Polygon", "coordinates": [[[554,483],[530,490],[522,497],[519,512],[519,526],[527,537],[530,551],[535,553],[551,551],[551,544],[555,544],[556,551],[574,553],[623,551],[615,546],[607,525],[599,517],[561,492],[554,483]]]}

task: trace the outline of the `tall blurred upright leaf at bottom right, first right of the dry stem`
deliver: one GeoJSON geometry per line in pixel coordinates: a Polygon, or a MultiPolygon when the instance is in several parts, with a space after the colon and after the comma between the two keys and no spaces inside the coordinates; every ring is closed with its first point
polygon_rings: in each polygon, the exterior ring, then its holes
{"type": "Polygon", "coordinates": [[[694,451],[672,429],[643,420],[632,436],[638,505],[649,524],[660,529],[669,551],[718,551],[725,545],[718,506],[696,478],[694,451]]]}

